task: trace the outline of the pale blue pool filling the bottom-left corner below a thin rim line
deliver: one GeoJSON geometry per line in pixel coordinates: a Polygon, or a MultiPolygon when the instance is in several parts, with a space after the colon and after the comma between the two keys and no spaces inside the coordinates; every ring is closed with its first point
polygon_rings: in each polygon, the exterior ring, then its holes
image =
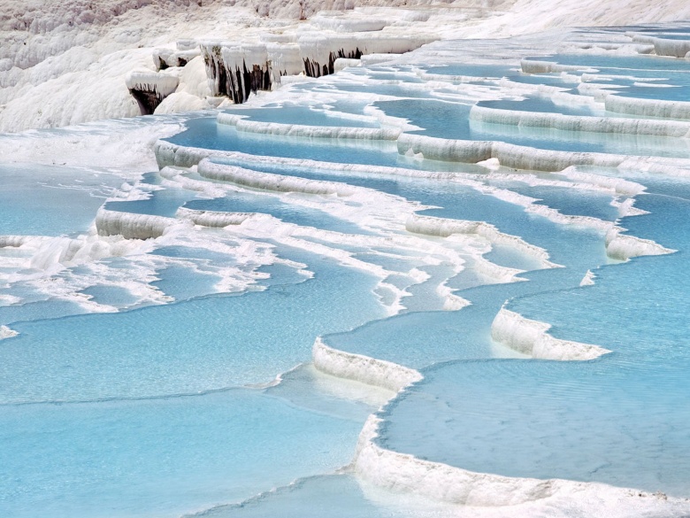
{"type": "Polygon", "coordinates": [[[5,405],[0,507],[16,518],[179,516],[242,501],[349,462],[361,422],[330,408],[250,389],[5,405]]]}

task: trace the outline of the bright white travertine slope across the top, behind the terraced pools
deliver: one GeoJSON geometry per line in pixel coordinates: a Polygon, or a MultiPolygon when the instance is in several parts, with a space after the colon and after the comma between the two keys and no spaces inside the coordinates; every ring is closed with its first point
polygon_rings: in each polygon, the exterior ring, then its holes
{"type": "MultiPolygon", "coordinates": [[[[154,73],[167,67],[181,71],[171,71],[180,75],[180,83],[159,112],[215,107],[219,101],[211,96],[218,94],[213,87],[218,78],[211,77],[210,89],[204,84],[207,72],[197,60],[201,41],[236,42],[234,47],[219,45],[225,59],[235,65],[246,63],[249,71],[257,65],[260,73],[268,72],[265,81],[274,85],[285,74],[311,71],[312,75],[322,75],[324,67],[331,73],[338,58],[405,52],[440,38],[506,36],[566,25],[690,18],[690,5],[682,0],[654,5],[641,0],[632,4],[478,0],[442,6],[420,0],[411,7],[396,8],[403,4],[408,3],[2,0],[0,131],[54,128],[138,115],[141,107],[126,87],[126,75],[135,69],[154,73]],[[376,5],[387,8],[372,7],[376,5]],[[355,9],[360,7],[364,9],[355,9]],[[322,12],[326,10],[346,11],[322,12]],[[317,16],[317,12],[322,13],[317,16]],[[256,48],[252,45],[263,45],[260,63],[247,61],[247,50],[242,50],[247,45],[250,49],[256,48]],[[240,54],[231,50],[237,48],[240,54]],[[267,62],[271,63],[270,70],[265,66],[267,62]]],[[[675,47],[673,52],[677,54],[675,47]]],[[[614,101],[610,99],[609,104],[614,101]]]]}

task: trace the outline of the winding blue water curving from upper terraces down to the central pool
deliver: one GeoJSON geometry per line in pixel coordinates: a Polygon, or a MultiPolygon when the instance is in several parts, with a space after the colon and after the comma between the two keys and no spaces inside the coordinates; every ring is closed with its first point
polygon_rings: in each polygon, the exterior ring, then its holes
{"type": "MultiPolygon", "coordinates": [[[[223,158],[218,161],[249,166],[243,160],[223,158]]],[[[423,212],[433,216],[461,220],[486,220],[505,233],[523,236],[529,243],[546,248],[551,252],[552,260],[568,266],[568,268],[557,268],[548,272],[526,274],[525,276],[533,279],[533,282],[463,291],[460,295],[472,300],[473,305],[459,313],[413,313],[395,317],[393,320],[366,324],[353,333],[326,337],[328,344],[346,351],[371,355],[412,367],[423,367],[429,363],[464,358],[467,355],[486,357],[490,355],[491,347],[489,325],[506,298],[533,290],[554,289],[563,286],[563,282],[565,285],[577,286],[587,269],[606,262],[602,236],[598,233],[535,218],[526,214],[521,207],[502,202],[495,197],[481,195],[474,189],[462,185],[438,180],[382,177],[372,174],[342,174],[329,172],[326,169],[314,170],[303,167],[265,165],[257,168],[262,171],[312,180],[347,182],[350,185],[373,188],[423,204],[439,206],[439,208],[423,212]],[[421,336],[418,332],[422,328],[426,330],[424,341],[420,342],[421,336]],[[476,329],[476,332],[469,332],[470,329],[476,329]]],[[[548,189],[542,189],[548,192],[548,189]]],[[[528,195],[536,194],[531,189],[519,190],[524,190],[528,195]]],[[[558,194],[566,202],[572,203],[574,194],[569,193],[567,189],[555,190],[563,191],[558,194]]],[[[593,207],[607,212],[605,206],[610,201],[608,197],[589,193],[586,196],[592,198],[590,204],[593,207]]],[[[553,195],[552,197],[559,199],[553,195]]],[[[562,208],[558,204],[554,205],[562,208]]],[[[585,210],[579,212],[585,215],[596,213],[596,211],[586,213],[585,210]]],[[[395,261],[380,260],[378,262],[384,267],[395,270],[395,261]]],[[[407,301],[403,300],[403,304],[407,304],[407,301]]]]}

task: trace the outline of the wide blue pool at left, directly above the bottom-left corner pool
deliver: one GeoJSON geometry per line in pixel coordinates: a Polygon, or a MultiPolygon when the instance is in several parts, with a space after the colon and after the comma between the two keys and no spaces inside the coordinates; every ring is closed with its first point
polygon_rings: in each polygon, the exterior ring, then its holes
{"type": "Polygon", "coordinates": [[[383,316],[371,277],[318,257],[308,264],[312,281],[243,297],[12,324],[19,336],[0,349],[2,402],[142,398],[265,383],[310,360],[319,334],[383,316]]]}

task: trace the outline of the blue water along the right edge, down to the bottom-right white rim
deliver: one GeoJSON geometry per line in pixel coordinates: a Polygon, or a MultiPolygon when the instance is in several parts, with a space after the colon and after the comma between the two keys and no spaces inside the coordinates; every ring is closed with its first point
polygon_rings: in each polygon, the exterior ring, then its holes
{"type": "MultiPolygon", "coordinates": [[[[639,197],[638,205],[651,214],[623,220],[625,228],[681,251],[597,270],[595,285],[584,290],[517,298],[509,305],[552,323],[554,336],[600,344],[612,353],[584,364],[491,360],[433,368],[424,383],[389,407],[381,444],[501,475],[686,496],[690,277],[682,265],[690,205],[654,194],[639,197]],[[433,405],[430,395],[439,396],[433,405]],[[429,432],[417,423],[438,422],[433,416],[441,408],[462,438],[443,429],[431,433],[464,447],[420,441],[429,432]],[[480,446],[487,440],[490,451],[480,446]]],[[[443,426],[448,428],[448,421],[443,426]]]]}

